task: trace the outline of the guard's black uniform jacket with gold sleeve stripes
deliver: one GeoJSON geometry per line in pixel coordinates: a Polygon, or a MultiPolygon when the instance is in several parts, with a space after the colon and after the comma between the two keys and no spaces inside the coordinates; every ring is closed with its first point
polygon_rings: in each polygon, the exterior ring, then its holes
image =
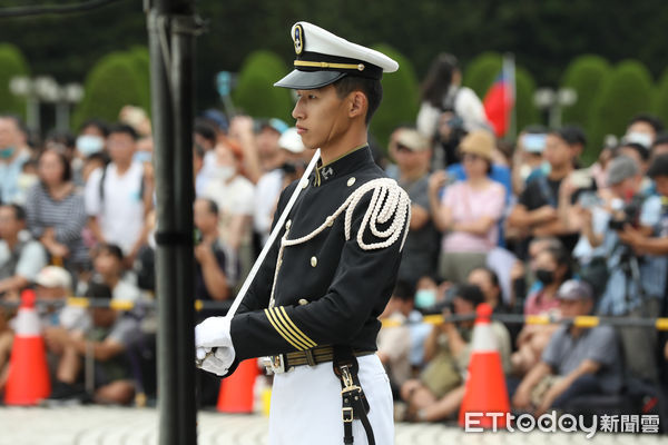
{"type": "MultiPolygon", "coordinates": [[[[367,146],[326,166],[318,165],[307,184],[295,181],[283,190],[274,221],[278,220],[295,187],[304,188],[279,238],[286,230],[287,239],[311,234],[355,189],[384,177],[367,146]]],[[[357,233],[372,195],[373,191],[364,194],[356,205],[348,240],[344,233],[345,212],[313,239],[285,247],[281,259],[281,239],[277,238],[232,320],[230,335],[237,363],[250,357],[305,350],[316,345],[345,344],[355,350],[376,349],[381,326],[377,316],[395,285],[410,211],[404,211],[405,221],[399,228],[401,236],[395,243],[363,249],[357,233]],[[267,308],[273,286],[275,305],[267,308]]],[[[399,212],[379,225],[380,231],[390,227],[394,218],[401,218],[399,212]]],[[[363,231],[365,244],[385,239],[372,234],[366,225],[363,231]]]]}

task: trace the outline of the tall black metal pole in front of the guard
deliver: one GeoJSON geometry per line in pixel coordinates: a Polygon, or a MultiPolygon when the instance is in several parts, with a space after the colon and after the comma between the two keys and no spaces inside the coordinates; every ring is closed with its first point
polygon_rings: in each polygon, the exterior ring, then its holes
{"type": "Polygon", "coordinates": [[[196,444],[193,0],[147,0],[157,199],[160,445],[196,444]]]}

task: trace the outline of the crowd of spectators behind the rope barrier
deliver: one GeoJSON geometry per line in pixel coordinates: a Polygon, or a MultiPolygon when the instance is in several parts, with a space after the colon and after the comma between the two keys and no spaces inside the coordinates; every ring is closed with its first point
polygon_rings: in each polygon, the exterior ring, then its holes
{"type": "MultiPolygon", "coordinates": [[[[494,137],[480,99],[461,87],[456,59],[444,55],[424,82],[415,122],[397,127],[387,147],[370,140],[412,200],[397,286],[382,316],[400,326],[379,337],[401,418],[452,418],[464,394],[473,323],[431,326],[420,323],[424,314],[471,315],[482,303],[499,315],[554,320],[668,314],[668,134],[657,118],[637,116],[606,147],[592,147],[578,126],[531,126],[509,144],[494,137]],[[586,149],[600,155],[584,168],[586,149]]],[[[16,301],[33,287],[46,300],[155,299],[153,154],[150,121],[132,107],[118,122],[91,119],[77,135],[39,142],[20,119],[0,116],[0,298],[16,301]]],[[[196,119],[196,299],[234,298],[281,190],[312,156],[276,118],[208,110],[196,119]]],[[[155,343],[155,314],[140,308],[40,308],[52,398],[126,404],[155,385],[141,363],[155,343]]],[[[0,315],[2,390],[14,312],[0,315]]],[[[620,396],[633,379],[662,400],[668,344],[655,328],[493,322],[492,332],[519,411],[620,396]]],[[[207,378],[203,404],[217,395],[207,378]]]]}

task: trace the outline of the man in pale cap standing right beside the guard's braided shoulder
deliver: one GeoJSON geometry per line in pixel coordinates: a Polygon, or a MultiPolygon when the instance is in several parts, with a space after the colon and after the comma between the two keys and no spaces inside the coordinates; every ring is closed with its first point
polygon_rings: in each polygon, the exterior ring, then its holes
{"type": "Polygon", "coordinates": [[[415,286],[420,278],[434,276],[439,255],[439,234],[429,202],[431,144],[418,130],[400,127],[392,134],[390,154],[396,161],[396,180],[411,198],[411,230],[399,268],[399,279],[415,286]]]}

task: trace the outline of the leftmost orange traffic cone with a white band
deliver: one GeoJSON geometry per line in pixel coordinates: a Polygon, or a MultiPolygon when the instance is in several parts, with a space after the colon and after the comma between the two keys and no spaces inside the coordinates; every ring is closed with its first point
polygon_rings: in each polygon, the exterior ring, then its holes
{"type": "Polygon", "coordinates": [[[36,405],[51,394],[49,367],[39,316],[35,310],[35,290],[21,293],[9,376],[4,390],[7,405],[36,405]]]}

